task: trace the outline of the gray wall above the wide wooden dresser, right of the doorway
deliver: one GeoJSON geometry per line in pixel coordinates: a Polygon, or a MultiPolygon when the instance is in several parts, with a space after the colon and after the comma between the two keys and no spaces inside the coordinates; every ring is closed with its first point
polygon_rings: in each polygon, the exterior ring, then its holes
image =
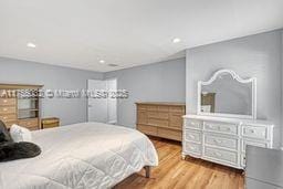
{"type": "Polygon", "coordinates": [[[129,98],[118,101],[118,124],[135,127],[136,102],[185,103],[185,59],[106,73],[106,78],[117,78],[119,90],[129,92],[129,98]]]}

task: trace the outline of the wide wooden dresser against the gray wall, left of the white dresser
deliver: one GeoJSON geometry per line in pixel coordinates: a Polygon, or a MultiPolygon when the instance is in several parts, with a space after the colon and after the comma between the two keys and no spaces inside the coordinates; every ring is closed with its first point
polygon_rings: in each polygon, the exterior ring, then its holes
{"type": "Polygon", "coordinates": [[[137,129],[146,135],[181,141],[185,104],[136,103],[137,129]]]}

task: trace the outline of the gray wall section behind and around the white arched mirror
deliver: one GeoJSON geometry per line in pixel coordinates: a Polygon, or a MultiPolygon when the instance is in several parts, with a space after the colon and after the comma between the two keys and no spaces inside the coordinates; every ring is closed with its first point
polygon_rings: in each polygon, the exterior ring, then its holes
{"type": "MultiPolygon", "coordinates": [[[[208,80],[220,69],[231,69],[242,77],[258,78],[258,118],[281,128],[281,31],[274,31],[187,50],[187,112],[197,112],[197,81],[208,80]]],[[[280,132],[274,134],[279,146],[280,132]]]]}

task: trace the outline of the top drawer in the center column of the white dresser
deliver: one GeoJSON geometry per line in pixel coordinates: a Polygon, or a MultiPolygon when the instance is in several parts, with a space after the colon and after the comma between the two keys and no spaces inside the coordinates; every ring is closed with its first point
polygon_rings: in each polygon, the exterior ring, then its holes
{"type": "Polygon", "coordinates": [[[233,124],[205,122],[203,127],[205,127],[205,130],[208,130],[208,132],[218,132],[218,133],[232,134],[232,135],[238,134],[238,126],[233,124]]]}

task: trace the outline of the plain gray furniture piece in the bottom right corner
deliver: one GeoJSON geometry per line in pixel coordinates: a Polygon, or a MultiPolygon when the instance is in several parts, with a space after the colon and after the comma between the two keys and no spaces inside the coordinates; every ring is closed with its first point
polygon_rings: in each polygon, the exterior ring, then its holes
{"type": "Polygon", "coordinates": [[[283,150],[247,148],[247,189],[283,189],[283,150]]]}

